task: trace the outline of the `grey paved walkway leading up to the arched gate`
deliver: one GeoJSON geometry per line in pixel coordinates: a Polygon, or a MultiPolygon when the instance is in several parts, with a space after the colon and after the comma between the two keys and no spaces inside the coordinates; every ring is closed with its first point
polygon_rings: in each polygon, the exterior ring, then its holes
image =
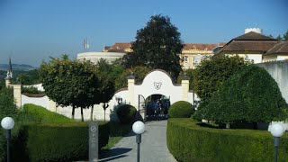
{"type": "MultiPolygon", "coordinates": [[[[148,121],[140,143],[140,162],[176,162],[166,146],[167,121],[148,121]]],[[[99,162],[135,162],[136,137],[130,132],[122,138],[99,162]]]]}

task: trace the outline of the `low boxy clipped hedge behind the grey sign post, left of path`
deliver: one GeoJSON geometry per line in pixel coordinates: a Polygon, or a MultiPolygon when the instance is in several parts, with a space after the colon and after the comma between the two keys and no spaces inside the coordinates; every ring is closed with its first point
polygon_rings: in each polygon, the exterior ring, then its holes
{"type": "MultiPolygon", "coordinates": [[[[99,150],[108,143],[109,125],[99,124],[99,150]]],[[[88,159],[89,122],[26,124],[13,141],[13,161],[88,159]]]]}

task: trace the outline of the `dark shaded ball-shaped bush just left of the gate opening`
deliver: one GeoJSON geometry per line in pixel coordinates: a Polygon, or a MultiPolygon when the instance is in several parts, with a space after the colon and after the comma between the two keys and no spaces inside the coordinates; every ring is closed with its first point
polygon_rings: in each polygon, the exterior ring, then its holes
{"type": "Polygon", "coordinates": [[[136,108],[130,104],[123,104],[117,109],[117,116],[121,123],[130,123],[136,115],[136,108]]]}

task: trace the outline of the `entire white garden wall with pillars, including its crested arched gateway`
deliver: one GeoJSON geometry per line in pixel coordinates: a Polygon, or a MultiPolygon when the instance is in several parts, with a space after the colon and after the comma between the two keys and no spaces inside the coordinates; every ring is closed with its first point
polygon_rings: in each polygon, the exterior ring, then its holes
{"type": "MultiPolygon", "coordinates": [[[[193,101],[199,100],[196,94],[189,91],[189,78],[184,76],[181,84],[175,85],[166,71],[156,69],[148,73],[145,76],[141,84],[135,84],[135,77],[128,77],[128,87],[117,91],[112,100],[108,103],[109,107],[106,111],[103,110],[103,103],[95,104],[94,111],[91,114],[90,109],[84,110],[85,121],[91,120],[107,120],[117,121],[117,115],[115,111],[117,108],[124,103],[128,103],[136,107],[142,116],[142,119],[146,119],[146,110],[143,106],[144,101],[148,96],[152,94],[162,94],[170,99],[170,103],[177,101],[187,101],[193,104],[193,101]]],[[[41,85],[39,85],[41,87],[41,85]]],[[[58,112],[60,114],[71,117],[71,106],[61,107],[57,103],[49,100],[47,96],[40,98],[33,98],[21,94],[21,85],[14,85],[14,98],[17,105],[23,106],[25,103],[34,103],[47,108],[49,111],[58,112]]],[[[81,113],[76,110],[75,119],[81,119],[81,113]]]]}

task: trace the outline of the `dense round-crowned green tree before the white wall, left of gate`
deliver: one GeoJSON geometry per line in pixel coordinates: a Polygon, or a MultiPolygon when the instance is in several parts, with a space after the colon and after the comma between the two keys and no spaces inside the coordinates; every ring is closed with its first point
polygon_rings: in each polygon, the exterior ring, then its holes
{"type": "Polygon", "coordinates": [[[52,58],[40,66],[40,80],[49,99],[61,106],[72,106],[72,118],[75,108],[83,109],[97,103],[100,80],[96,67],[90,61],[70,60],[67,56],[52,58]]]}

